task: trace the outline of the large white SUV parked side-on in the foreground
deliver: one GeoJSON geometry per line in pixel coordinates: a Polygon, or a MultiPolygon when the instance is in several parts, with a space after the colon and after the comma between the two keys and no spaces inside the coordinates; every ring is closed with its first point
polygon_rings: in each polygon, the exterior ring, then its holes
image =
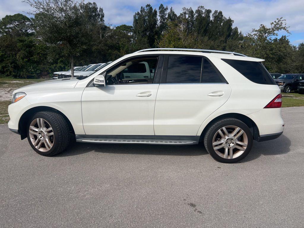
{"type": "Polygon", "coordinates": [[[240,161],[253,140],[284,130],[280,89],[262,61],[214,50],[140,50],[90,76],[15,90],[9,128],[44,156],[74,136],[87,143],[204,142],[217,161],[240,161]]]}

